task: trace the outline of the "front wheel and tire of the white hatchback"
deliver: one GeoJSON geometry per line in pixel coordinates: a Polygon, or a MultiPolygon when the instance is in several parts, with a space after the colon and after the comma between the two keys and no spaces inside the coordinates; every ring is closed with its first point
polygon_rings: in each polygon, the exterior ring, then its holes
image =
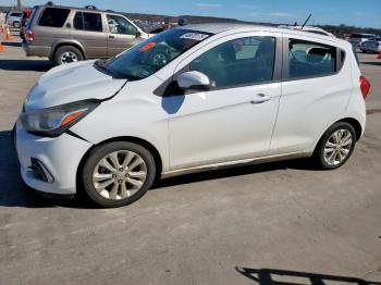
{"type": "Polygon", "coordinates": [[[155,177],[155,159],[146,148],[133,142],[115,141],[96,147],[90,151],[82,170],[81,182],[84,193],[93,202],[102,208],[116,208],[140,199],[152,186],[155,177]],[[109,169],[115,169],[110,168],[114,166],[114,153],[116,153],[118,170],[110,171],[109,169]],[[131,161],[126,163],[127,168],[124,169],[122,164],[130,159],[131,161]],[[136,175],[140,177],[136,178],[136,175]],[[107,179],[101,179],[103,177],[107,179]]]}

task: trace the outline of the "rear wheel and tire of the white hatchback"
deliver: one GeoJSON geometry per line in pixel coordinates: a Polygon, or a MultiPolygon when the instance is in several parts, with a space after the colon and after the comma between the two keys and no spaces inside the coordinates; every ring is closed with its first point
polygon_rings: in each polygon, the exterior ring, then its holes
{"type": "Polygon", "coordinates": [[[317,165],[323,170],[341,168],[351,158],[356,140],[356,131],[351,124],[345,122],[333,124],[321,137],[315,150],[314,159],[317,165]],[[340,131],[342,132],[341,136],[337,133],[340,131]],[[334,134],[337,136],[334,136],[334,134]],[[345,139],[347,136],[349,138],[345,139]],[[335,140],[340,142],[336,144],[335,140]],[[351,144],[348,144],[349,140],[351,144]],[[332,159],[330,159],[331,156],[333,156],[332,159]]]}

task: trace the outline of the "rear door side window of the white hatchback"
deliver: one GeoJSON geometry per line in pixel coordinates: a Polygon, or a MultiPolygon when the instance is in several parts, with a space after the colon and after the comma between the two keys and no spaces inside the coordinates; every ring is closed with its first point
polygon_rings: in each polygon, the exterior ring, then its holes
{"type": "Polygon", "coordinates": [[[288,46],[290,78],[323,76],[336,71],[336,48],[294,39],[288,46]]]}

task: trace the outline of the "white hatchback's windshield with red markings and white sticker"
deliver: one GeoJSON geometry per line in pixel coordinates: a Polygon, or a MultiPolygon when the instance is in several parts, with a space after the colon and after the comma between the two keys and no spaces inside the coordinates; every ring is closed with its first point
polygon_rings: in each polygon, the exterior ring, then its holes
{"type": "Polygon", "coordinates": [[[109,61],[98,62],[115,78],[144,79],[212,34],[173,28],[151,37],[109,61]]]}

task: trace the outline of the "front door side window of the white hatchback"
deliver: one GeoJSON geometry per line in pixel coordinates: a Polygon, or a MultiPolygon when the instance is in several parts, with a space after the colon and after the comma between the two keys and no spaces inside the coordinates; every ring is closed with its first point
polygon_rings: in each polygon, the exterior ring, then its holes
{"type": "Polygon", "coordinates": [[[226,41],[190,63],[192,71],[206,74],[212,87],[228,88],[272,79],[275,38],[247,37],[226,41]]]}

